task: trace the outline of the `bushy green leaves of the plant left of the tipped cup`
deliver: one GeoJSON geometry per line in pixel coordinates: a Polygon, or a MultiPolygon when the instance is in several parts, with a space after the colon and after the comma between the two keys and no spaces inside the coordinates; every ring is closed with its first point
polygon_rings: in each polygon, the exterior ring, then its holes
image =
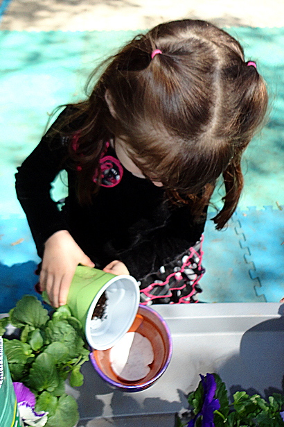
{"type": "Polygon", "coordinates": [[[35,410],[48,412],[46,427],[73,427],[78,406],[64,383],[68,377],[71,387],[83,383],[80,367],[89,359],[89,349],[80,322],[67,305],[50,318],[39,300],[25,295],[0,320],[0,335],[8,324],[19,328],[19,339],[3,340],[12,380],[35,394],[35,410]]]}

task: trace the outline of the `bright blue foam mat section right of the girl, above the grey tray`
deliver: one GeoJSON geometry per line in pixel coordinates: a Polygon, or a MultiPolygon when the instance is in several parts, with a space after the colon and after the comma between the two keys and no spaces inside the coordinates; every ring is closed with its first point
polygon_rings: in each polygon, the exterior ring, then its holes
{"type": "MultiPolygon", "coordinates": [[[[212,216],[212,215],[211,215],[212,216]]],[[[227,229],[206,223],[206,302],[279,302],[284,297],[284,210],[237,210],[227,229]]]]}

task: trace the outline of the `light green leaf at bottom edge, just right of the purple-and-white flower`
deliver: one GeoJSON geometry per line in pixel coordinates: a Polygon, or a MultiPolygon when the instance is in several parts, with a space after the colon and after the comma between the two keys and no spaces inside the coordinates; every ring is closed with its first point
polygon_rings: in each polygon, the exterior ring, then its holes
{"type": "Polygon", "coordinates": [[[48,417],[45,427],[73,427],[79,421],[78,405],[72,396],[58,399],[55,413],[48,417]]]}

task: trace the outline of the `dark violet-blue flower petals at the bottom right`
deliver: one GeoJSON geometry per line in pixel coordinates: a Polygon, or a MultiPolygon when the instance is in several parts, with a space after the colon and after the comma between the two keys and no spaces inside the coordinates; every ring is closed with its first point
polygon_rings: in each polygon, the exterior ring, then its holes
{"type": "Polygon", "coordinates": [[[195,421],[198,417],[202,416],[202,427],[214,427],[214,412],[220,409],[218,399],[214,399],[214,394],[217,388],[213,374],[206,374],[206,377],[200,374],[202,385],[204,389],[204,400],[202,410],[195,416],[194,419],[189,421],[188,427],[194,427],[195,421]]]}

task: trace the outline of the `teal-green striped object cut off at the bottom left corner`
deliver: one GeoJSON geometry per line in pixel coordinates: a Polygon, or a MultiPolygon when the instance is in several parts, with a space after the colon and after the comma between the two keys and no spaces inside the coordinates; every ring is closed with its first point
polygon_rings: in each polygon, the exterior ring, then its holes
{"type": "Polygon", "coordinates": [[[21,419],[17,407],[17,399],[0,337],[0,426],[20,427],[21,419]]]}

